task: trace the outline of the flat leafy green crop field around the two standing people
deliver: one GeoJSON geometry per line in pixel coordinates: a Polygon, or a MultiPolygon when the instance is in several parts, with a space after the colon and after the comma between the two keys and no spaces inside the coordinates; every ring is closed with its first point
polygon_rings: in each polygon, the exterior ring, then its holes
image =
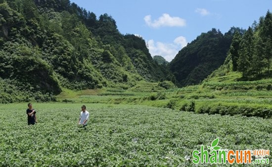
{"type": "Polygon", "coordinates": [[[217,137],[223,149],[272,150],[272,119],[89,103],[84,130],[81,105],[33,103],[28,126],[26,103],[0,104],[0,166],[195,166],[192,151],[217,137]]]}

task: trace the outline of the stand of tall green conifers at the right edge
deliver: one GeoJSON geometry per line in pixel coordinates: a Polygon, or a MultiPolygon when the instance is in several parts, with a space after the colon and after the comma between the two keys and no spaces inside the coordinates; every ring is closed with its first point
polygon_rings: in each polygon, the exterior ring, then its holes
{"type": "Polygon", "coordinates": [[[245,33],[236,31],[229,53],[233,71],[242,72],[244,79],[271,77],[272,13],[268,11],[245,33]]]}

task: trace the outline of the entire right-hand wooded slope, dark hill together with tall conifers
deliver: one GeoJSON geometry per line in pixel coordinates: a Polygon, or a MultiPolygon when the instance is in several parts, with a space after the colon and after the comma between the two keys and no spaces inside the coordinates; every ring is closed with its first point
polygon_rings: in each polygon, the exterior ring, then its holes
{"type": "Polygon", "coordinates": [[[224,35],[215,29],[202,33],[178,53],[169,67],[179,86],[198,84],[214,70],[212,76],[242,72],[237,80],[271,78],[272,13],[268,11],[247,30],[231,28],[224,35]]]}

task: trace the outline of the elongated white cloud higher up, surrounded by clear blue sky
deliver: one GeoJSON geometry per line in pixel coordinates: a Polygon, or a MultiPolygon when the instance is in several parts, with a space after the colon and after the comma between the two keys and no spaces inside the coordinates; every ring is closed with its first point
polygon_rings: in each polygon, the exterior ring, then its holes
{"type": "Polygon", "coordinates": [[[186,26],[186,21],[180,17],[171,17],[169,14],[164,13],[157,20],[152,21],[151,15],[147,15],[143,18],[145,24],[149,27],[159,28],[159,27],[184,27],[186,26]]]}

